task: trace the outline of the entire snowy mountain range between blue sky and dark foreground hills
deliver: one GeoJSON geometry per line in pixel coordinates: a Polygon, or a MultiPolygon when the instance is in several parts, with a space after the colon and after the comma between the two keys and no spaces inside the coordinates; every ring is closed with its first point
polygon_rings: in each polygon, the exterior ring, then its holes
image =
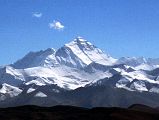
{"type": "Polygon", "coordinates": [[[82,37],[0,67],[0,107],[159,106],[159,59],[111,57],[82,37]]]}

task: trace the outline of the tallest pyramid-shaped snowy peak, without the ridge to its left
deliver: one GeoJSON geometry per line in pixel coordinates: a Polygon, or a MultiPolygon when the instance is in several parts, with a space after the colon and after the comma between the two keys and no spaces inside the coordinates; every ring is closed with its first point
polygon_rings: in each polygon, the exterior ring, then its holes
{"type": "Polygon", "coordinates": [[[60,64],[76,68],[85,67],[92,62],[112,65],[116,61],[116,59],[105,54],[99,48],[81,37],[77,37],[72,42],[65,44],[62,48],[57,50],[55,55],[60,64]]]}

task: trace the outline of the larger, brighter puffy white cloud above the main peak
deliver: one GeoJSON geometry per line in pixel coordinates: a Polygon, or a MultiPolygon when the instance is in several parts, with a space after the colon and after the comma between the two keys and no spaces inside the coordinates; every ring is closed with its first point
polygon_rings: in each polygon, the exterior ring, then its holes
{"type": "Polygon", "coordinates": [[[63,30],[65,26],[61,22],[54,20],[52,23],[49,23],[49,27],[55,30],[63,30]]]}

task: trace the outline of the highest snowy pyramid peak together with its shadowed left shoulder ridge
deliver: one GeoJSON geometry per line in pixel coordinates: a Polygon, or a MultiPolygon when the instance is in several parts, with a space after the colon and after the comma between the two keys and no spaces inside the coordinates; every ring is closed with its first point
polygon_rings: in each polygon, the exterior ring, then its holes
{"type": "Polygon", "coordinates": [[[106,55],[102,50],[82,37],[77,37],[57,51],[49,48],[44,51],[30,52],[24,56],[24,58],[14,63],[13,67],[24,69],[37,66],[57,66],[64,64],[70,67],[81,68],[92,62],[112,65],[115,59],[106,55]]]}

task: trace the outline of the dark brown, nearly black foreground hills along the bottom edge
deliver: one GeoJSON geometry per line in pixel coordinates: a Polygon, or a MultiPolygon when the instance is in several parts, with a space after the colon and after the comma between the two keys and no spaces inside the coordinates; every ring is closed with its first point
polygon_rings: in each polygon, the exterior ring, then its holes
{"type": "Polygon", "coordinates": [[[159,120],[159,110],[144,105],[129,108],[20,106],[0,109],[0,120],[159,120]]]}

